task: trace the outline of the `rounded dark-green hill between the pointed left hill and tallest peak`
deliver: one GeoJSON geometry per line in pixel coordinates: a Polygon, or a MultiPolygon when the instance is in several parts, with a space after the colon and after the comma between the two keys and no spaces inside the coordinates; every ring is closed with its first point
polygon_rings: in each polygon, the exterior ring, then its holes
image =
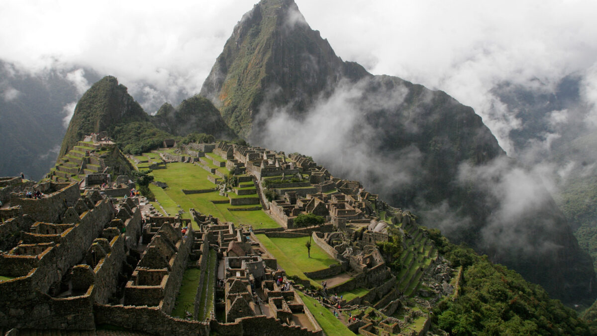
{"type": "Polygon", "coordinates": [[[199,95],[183,100],[177,108],[164,103],[151,119],[159,129],[177,136],[196,132],[208,133],[219,139],[236,138],[216,106],[199,95]]]}

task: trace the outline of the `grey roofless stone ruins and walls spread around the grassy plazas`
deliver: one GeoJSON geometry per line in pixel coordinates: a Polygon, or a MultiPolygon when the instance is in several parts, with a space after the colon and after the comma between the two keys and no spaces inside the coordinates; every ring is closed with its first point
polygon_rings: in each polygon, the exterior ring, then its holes
{"type": "Polygon", "coordinates": [[[429,316],[409,310],[401,299],[416,294],[419,283],[424,284],[422,294],[435,295],[433,300],[457,289],[449,284],[453,270],[438,258],[416,217],[387,206],[358,181],[335,178],[310,158],[264,148],[220,142],[176,151],[180,154],[161,153],[161,161],[152,164],[196,164],[211,173],[214,184],[230,181],[227,170],[235,175],[235,185],[225,190],[228,201],[217,202],[255,204],[229,210],[267,209],[281,227],[254,232],[195,209],[190,209],[194,224],[180,215],[158,215],[153,207],[142,215],[146,202],[111,198],[133,187],[127,176],[113,180],[90,172],[85,184],[56,182],[60,178],[36,185],[0,179],[0,192],[11,191],[3,196],[10,204],[0,209],[0,276],[5,277],[0,280],[0,328],[93,330],[109,324],[157,335],[322,335],[298,295],[302,288],[307,295],[323,296],[320,303],[334,310],[337,303],[342,311],[373,307],[349,323],[354,332],[422,335],[429,316]],[[99,188],[108,182],[117,188],[99,188]],[[39,199],[26,197],[27,191],[37,190],[43,193],[39,199]],[[264,194],[272,191],[277,199],[268,200],[264,194]],[[324,217],[325,224],[294,225],[297,216],[309,213],[324,217]],[[337,264],[305,276],[343,280],[309,291],[312,283],[288,279],[256,233],[310,237],[337,264]],[[395,234],[403,239],[400,274],[387,264],[395,260],[386,261],[378,248],[395,234]],[[201,272],[193,313],[180,319],[171,314],[189,268],[201,272]],[[356,289],[367,290],[350,300],[330,301],[330,295],[356,289]],[[35,318],[27,316],[30,311],[35,318]],[[389,317],[397,311],[404,312],[404,320],[389,317]],[[412,320],[423,320],[424,328],[410,329],[412,320]]]}

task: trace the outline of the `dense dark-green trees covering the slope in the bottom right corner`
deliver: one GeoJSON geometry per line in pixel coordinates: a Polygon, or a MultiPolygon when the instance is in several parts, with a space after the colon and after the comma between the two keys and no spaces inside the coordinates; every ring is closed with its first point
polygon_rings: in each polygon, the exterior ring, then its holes
{"type": "Polygon", "coordinates": [[[492,264],[487,256],[449,243],[438,230],[429,233],[453,267],[464,268],[458,297],[441,301],[433,310],[439,328],[453,335],[589,334],[576,312],[551,300],[541,286],[492,264]]]}

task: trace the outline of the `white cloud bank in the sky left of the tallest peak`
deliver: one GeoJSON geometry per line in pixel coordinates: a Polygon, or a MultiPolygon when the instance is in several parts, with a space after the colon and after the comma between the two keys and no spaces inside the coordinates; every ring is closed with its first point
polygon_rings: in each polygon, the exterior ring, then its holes
{"type": "Polygon", "coordinates": [[[93,68],[121,83],[197,93],[245,1],[115,0],[0,5],[0,58],[39,71],[57,63],[93,68]],[[93,13],[93,15],[91,15],[93,13]]]}

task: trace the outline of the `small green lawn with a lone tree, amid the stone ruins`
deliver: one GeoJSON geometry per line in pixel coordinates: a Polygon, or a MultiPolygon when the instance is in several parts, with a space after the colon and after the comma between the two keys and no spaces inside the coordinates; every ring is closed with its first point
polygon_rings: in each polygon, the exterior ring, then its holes
{"type": "Polygon", "coordinates": [[[263,246],[278,259],[278,264],[284,268],[287,276],[296,276],[301,280],[309,280],[315,288],[321,288],[318,282],[309,279],[304,272],[324,270],[331,265],[337,265],[336,259],[311,242],[311,258],[307,255],[305,243],[309,237],[298,238],[270,238],[265,234],[258,234],[257,238],[263,246]]]}

